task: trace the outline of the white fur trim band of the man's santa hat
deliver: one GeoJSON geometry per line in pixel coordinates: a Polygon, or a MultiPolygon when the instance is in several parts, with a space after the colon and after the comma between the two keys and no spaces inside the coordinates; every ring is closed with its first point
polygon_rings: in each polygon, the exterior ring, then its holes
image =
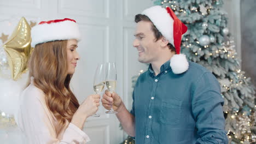
{"type": "Polygon", "coordinates": [[[159,5],[150,7],[142,11],[154,23],[155,27],[164,35],[164,37],[174,45],[173,42],[173,19],[167,10],[159,5]]]}

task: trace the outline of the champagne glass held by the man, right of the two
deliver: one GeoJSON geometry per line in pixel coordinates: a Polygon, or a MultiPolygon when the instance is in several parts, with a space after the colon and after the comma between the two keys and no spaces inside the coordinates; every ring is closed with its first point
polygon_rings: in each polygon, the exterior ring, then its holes
{"type": "MultiPolygon", "coordinates": [[[[115,67],[114,62],[109,62],[106,64],[106,86],[110,93],[115,91],[115,87],[117,85],[117,69],[115,67]]],[[[113,110],[113,105],[111,105],[111,109],[106,111],[108,114],[117,113],[117,111],[113,110]]]]}

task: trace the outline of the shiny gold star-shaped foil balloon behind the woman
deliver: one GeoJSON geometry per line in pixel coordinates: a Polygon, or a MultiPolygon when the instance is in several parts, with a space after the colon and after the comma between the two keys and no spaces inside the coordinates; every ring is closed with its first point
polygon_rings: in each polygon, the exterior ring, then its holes
{"type": "Polygon", "coordinates": [[[28,58],[32,52],[31,28],[26,19],[22,17],[11,34],[10,38],[3,45],[7,53],[7,59],[13,80],[26,72],[28,58]]]}

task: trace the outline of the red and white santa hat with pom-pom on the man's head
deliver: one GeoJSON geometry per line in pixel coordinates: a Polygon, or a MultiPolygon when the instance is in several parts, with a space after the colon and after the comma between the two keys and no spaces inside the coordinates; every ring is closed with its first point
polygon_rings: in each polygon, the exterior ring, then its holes
{"type": "Polygon", "coordinates": [[[170,67],[174,74],[182,74],[188,70],[189,63],[184,54],[181,54],[182,34],[187,32],[187,26],[178,19],[172,9],[158,6],[148,8],[142,12],[149,17],[155,27],[176,49],[176,55],[170,59],[170,67]]]}

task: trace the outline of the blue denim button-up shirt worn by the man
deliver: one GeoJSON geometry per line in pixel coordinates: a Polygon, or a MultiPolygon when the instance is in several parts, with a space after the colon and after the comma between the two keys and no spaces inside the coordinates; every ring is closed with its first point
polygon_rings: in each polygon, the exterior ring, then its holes
{"type": "Polygon", "coordinates": [[[228,143],[219,82],[199,64],[173,74],[168,61],[157,76],[149,65],[132,98],[138,144],[228,143]]]}

